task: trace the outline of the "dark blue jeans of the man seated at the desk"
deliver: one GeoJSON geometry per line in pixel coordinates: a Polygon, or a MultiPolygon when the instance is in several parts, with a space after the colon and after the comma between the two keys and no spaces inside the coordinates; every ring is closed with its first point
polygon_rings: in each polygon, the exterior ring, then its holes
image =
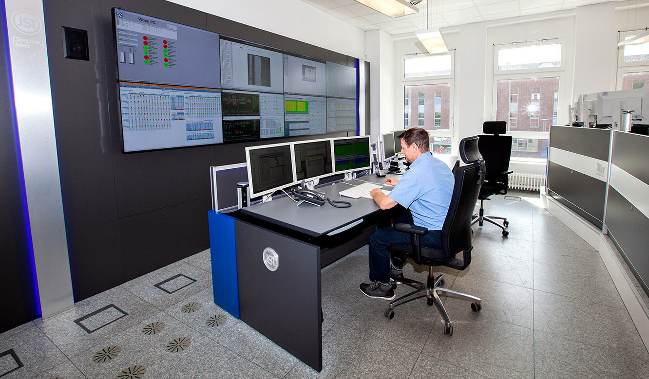
{"type": "MultiPolygon", "coordinates": [[[[395,220],[395,224],[400,222],[412,224],[411,216],[402,216],[395,220]]],[[[441,248],[441,231],[428,231],[427,235],[421,236],[421,246],[441,248]]],[[[410,235],[400,231],[395,231],[393,227],[384,227],[376,229],[369,236],[369,277],[371,281],[390,281],[390,253],[387,251],[387,244],[410,244],[410,235]]],[[[403,266],[406,257],[393,257],[395,266],[403,266]]]]}

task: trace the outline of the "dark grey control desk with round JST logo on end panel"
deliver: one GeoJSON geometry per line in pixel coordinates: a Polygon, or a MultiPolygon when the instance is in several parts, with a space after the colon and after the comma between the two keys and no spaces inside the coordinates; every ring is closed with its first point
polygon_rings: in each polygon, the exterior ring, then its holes
{"type": "MultiPolygon", "coordinates": [[[[374,175],[363,179],[384,180],[374,175]]],[[[232,217],[240,319],[317,371],[322,370],[320,269],[367,244],[377,225],[389,225],[390,213],[379,212],[371,198],[339,196],[347,188],[336,183],[317,190],[331,200],[350,201],[349,208],[329,203],[297,206],[284,197],[243,208],[232,217]],[[360,224],[340,231],[359,220],[360,224]]],[[[219,304],[217,291],[223,288],[217,288],[214,254],[215,303],[219,304]]]]}

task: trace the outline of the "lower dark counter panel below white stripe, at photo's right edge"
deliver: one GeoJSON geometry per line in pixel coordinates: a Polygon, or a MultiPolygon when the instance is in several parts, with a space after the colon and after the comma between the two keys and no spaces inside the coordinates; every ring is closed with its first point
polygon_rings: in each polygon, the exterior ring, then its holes
{"type": "Polygon", "coordinates": [[[649,236],[646,235],[646,231],[649,231],[649,218],[633,207],[617,190],[609,187],[606,227],[638,281],[649,293],[649,236]],[[639,231],[645,233],[638,233],[639,231]]]}

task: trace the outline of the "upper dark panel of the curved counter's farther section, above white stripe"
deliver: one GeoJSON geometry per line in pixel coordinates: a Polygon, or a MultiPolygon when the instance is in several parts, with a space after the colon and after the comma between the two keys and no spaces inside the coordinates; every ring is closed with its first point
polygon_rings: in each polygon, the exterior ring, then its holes
{"type": "Polygon", "coordinates": [[[610,130],[552,126],[550,147],[608,162],[610,138],[610,130]]]}

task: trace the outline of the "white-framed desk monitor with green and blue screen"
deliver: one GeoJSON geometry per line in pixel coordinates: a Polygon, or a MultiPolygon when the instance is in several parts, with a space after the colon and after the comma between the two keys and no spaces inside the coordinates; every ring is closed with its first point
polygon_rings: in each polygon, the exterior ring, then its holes
{"type": "Polygon", "coordinates": [[[332,141],[336,174],[371,167],[369,136],[334,138],[332,141]]]}

